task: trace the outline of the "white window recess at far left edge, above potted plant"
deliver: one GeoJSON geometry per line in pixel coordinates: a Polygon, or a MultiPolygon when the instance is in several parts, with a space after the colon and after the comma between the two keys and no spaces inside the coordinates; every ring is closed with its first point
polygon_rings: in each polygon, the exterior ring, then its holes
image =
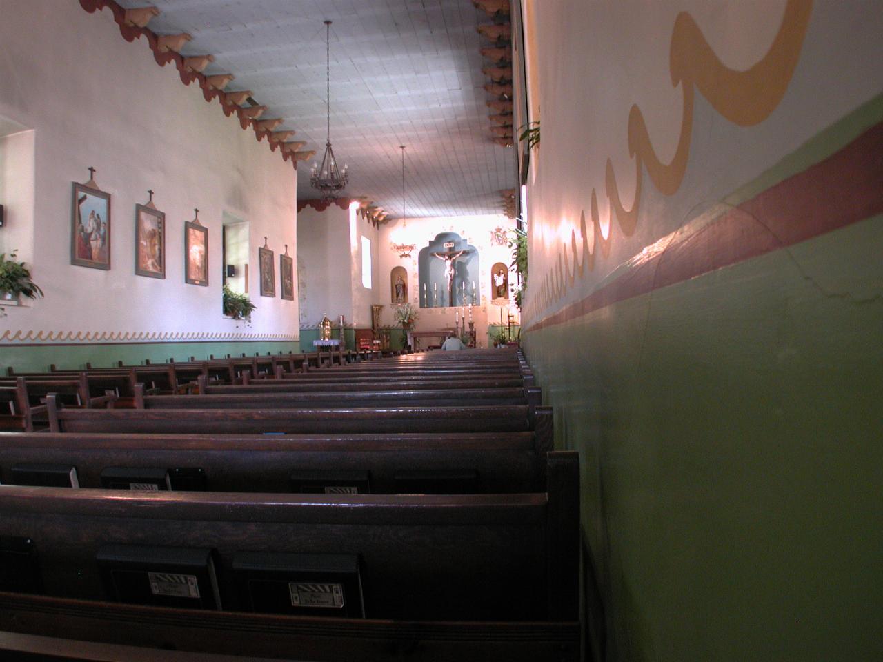
{"type": "Polygon", "coordinates": [[[18,260],[34,260],[34,132],[0,138],[0,205],[4,227],[0,252],[18,251],[18,260]]]}

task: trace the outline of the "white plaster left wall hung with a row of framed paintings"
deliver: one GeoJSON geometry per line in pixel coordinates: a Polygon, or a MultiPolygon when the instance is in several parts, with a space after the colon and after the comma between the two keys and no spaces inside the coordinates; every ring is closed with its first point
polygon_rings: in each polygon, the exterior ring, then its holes
{"type": "MultiPolygon", "coordinates": [[[[160,67],[109,10],[75,2],[0,0],[0,117],[35,132],[34,279],[45,300],[13,309],[13,330],[298,337],[298,301],[257,297],[253,326],[221,313],[223,214],[247,219],[250,262],[268,237],[297,248],[291,163],[160,67]],[[71,182],[87,167],[112,195],[110,271],[70,264],[71,182]],[[134,275],[134,207],[155,191],[166,214],[166,278],[134,275]],[[184,222],[208,227],[209,287],[184,282],[184,222]],[[260,242],[259,242],[260,238],[260,242]]],[[[14,213],[14,212],[13,212],[14,213]]],[[[258,290],[257,269],[249,290],[258,290]]]]}

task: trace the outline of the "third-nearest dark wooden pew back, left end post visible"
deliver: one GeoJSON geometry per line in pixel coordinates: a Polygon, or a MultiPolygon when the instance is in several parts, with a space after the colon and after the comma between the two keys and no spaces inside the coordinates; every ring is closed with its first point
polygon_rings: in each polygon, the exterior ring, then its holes
{"type": "MultiPolygon", "coordinates": [[[[210,397],[208,395],[200,397],[210,397]]],[[[47,398],[50,432],[79,433],[401,433],[532,430],[547,408],[389,407],[289,410],[72,410],[47,398]]]]}

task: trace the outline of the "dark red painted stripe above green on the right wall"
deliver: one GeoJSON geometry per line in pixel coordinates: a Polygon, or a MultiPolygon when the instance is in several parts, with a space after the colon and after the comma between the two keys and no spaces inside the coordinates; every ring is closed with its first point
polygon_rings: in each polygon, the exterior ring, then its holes
{"type": "Polygon", "coordinates": [[[605,306],[751,260],[883,212],[883,123],[839,152],[747,200],[708,227],[527,329],[537,331],[605,306]]]}

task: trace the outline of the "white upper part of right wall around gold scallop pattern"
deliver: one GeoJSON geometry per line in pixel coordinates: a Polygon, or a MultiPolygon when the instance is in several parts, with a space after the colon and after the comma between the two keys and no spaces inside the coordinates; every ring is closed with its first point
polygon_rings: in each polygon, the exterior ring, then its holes
{"type": "MultiPolygon", "coordinates": [[[[669,72],[669,49],[679,12],[686,11],[696,20],[724,64],[743,71],[766,55],[786,3],[630,0],[585,4],[567,0],[533,4],[536,21],[529,29],[541,53],[536,68],[543,124],[529,178],[534,287],[527,291],[525,308],[531,309],[532,300],[539,296],[540,282],[547,275],[554,278],[559,258],[570,257],[571,236],[575,235],[577,246],[582,244],[581,214],[589,219],[587,239],[593,250],[592,190],[597,192],[602,232],[612,237],[609,254],[598,253],[591,275],[570,288],[555,306],[543,309],[537,303],[538,319],[585,297],[615,267],[758,177],[881,89],[880,3],[818,0],[811,6],[794,76],[769,117],[759,124],[738,126],[721,117],[696,92],[683,183],[669,197],[658,192],[644,173],[641,221],[626,236],[615,214],[614,221],[610,220],[608,159],[628,209],[637,181],[628,129],[633,104],[645,118],[660,160],[667,163],[672,158],[683,117],[683,90],[672,85],[669,72]]],[[[529,67],[531,62],[529,58],[529,67]]]]}

